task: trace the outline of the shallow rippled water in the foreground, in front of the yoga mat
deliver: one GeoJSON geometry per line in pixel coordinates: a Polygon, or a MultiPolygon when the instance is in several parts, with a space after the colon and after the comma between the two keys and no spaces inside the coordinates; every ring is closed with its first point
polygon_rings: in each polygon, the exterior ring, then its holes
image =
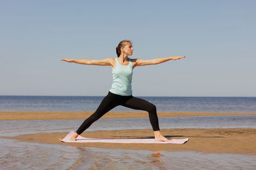
{"type": "Polygon", "coordinates": [[[0,169],[255,169],[256,156],[150,152],[25,143],[0,138],[0,169]]]}

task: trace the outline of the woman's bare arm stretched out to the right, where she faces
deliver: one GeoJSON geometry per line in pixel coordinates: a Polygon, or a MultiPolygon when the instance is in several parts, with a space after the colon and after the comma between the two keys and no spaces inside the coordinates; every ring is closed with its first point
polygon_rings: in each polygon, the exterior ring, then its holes
{"type": "Polygon", "coordinates": [[[160,63],[166,62],[168,60],[179,60],[179,59],[183,59],[183,58],[185,58],[185,56],[184,57],[180,57],[180,56],[165,57],[165,58],[157,58],[157,59],[152,59],[152,60],[134,59],[134,67],[160,64],[160,63]]]}

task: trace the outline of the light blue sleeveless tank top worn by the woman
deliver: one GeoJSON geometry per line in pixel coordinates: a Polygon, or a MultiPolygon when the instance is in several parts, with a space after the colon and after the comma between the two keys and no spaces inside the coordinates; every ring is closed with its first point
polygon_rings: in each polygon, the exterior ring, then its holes
{"type": "MultiPolygon", "coordinates": [[[[129,58],[128,58],[129,59],[129,58]]],[[[117,58],[115,58],[116,64],[112,69],[113,73],[113,83],[109,90],[113,94],[118,94],[121,96],[131,96],[132,95],[132,61],[129,59],[129,64],[127,66],[121,65],[117,58]]]]}

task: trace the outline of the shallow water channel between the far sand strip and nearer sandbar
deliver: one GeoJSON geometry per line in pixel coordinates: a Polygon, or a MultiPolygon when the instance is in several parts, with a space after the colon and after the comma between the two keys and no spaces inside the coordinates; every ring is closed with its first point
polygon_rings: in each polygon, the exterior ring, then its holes
{"type": "MultiPolygon", "coordinates": [[[[0,136],[17,136],[38,132],[76,131],[84,120],[1,120],[0,136]]],[[[166,117],[159,118],[161,129],[256,128],[256,116],[166,117]]],[[[148,118],[99,119],[86,131],[151,129],[148,118]]]]}

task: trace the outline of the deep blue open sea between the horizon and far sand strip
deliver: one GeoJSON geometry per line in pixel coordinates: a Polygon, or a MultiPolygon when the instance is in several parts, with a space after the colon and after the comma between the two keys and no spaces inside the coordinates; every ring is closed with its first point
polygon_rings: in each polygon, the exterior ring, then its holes
{"type": "MultiPolygon", "coordinates": [[[[95,111],[104,96],[0,96],[0,111],[95,111]]],[[[157,111],[256,113],[256,97],[140,97],[157,111]]],[[[111,111],[134,111],[117,106],[111,111]]]]}

